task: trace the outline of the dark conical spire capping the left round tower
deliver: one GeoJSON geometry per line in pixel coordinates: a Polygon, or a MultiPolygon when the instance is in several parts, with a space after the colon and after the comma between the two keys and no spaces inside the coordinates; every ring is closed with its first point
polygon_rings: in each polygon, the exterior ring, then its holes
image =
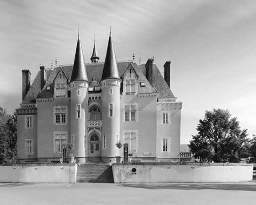
{"type": "Polygon", "coordinates": [[[70,82],[73,82],[75,80],[84,80],[89,82],[87,73],[86,73],[85,63],[84,63],[82,45],[80,43],[80,38],[79,38],[79,31],[78,31],[78,39],[77,39],[77,45],[76,45],[75,60],[74,60],[70,82]]]}

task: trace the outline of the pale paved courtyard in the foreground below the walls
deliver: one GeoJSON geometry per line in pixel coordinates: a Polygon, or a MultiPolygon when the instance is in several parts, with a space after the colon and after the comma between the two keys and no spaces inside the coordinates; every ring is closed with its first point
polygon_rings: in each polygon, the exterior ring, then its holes
{"type": "Polygon", "coordinates": [[[0,183],[0,204],[256,204],[242,183],[0,183]]]}

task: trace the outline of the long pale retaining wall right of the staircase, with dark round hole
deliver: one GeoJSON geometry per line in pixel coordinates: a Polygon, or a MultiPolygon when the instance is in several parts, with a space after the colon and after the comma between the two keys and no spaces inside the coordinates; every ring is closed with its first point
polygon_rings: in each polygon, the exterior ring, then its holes
{"type": "Polygon", "coordinates": [[[253,164],[114,163],[112,170],[115,183],[240,182],[252,180],[253,164]]]}

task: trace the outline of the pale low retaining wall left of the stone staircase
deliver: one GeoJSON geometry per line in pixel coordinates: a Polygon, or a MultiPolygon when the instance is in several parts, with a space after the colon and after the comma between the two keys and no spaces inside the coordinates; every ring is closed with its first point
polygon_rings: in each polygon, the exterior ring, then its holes
{"type": "Polygon", "coordinates": [[[75,163],[0,164],[0,182],[75,183],[75,163]]]}

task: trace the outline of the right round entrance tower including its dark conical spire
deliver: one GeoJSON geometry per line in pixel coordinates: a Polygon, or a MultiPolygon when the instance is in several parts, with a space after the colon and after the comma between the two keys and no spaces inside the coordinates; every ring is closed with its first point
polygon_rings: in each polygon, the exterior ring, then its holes
{"type": "Polygon", "coordinates": [[[109,162],[118,155],[116,142],[120,135],[120,83],[114,47],[109,35],[106,58],[104,62],[101,87],[102,112],[102,146],[101,160],[109,162]]]}

